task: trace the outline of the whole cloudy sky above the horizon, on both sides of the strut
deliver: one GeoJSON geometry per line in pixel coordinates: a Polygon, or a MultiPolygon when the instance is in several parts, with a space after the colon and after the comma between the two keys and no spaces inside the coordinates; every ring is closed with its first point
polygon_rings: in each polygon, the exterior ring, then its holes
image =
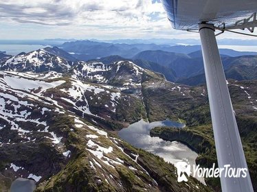
{"type": "Polygon", "coordinates": [[[159,0],[0,0],[0,25],[1,39],[199,38],[172,29],[159,0]]]}

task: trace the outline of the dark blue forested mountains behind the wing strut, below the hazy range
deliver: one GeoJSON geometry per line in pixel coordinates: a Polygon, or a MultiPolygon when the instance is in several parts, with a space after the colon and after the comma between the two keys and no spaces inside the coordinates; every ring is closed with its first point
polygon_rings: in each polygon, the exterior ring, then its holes
{"type": "MultiPolygon", "coordinates": [[[[236,53],[231,50],[221,49],[221,53],[236,53]]],[[[179,54],[166,51],[143,51],[138,53],[133,59],[157,62],[166,67],[167,71],[172,71],[175,77],[166,76],[168,80],[175,79],[175,82],[197,85],[205,83],[203,58],[201,51],[194,53],[179,54]]],[[[221,55],[226,77],[234,80],[257,79],[257,56],[237,56],[230,57],[221,55]]],[[[158,71],[159,72],[159,71],[158,71]]]]}

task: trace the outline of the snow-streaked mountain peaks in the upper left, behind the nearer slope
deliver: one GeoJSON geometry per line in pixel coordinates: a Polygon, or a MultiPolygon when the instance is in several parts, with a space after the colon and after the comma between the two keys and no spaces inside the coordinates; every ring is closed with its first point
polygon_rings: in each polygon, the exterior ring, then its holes
{"type": "Polygon", "coordinates": [[[0,69],[4,71],[43,73],[56,71],[58,73],[73,74],[75,78],[91,80],[92,82],[105,82],[136,86],[142,77],[144,69],[130,61],[112,62],[79,62],[69,53],[57,47],[46,47],[30,53],[19,53],[0,60],[0,69]],[[70,58],[70,60],[67,60],[70,58]],[[120,67],[122,70],[120,70],[120,67]],[[72,69],[71,69],[72,68],[72,69]],[[70,70],[71,69],[71,70],[70,70]]]}

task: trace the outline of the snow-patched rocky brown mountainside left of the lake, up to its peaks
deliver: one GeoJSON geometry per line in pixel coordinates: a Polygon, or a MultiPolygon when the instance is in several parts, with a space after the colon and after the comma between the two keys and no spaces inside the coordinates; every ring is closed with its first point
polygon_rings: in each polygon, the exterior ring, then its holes
{"type": "Polygon", "coordinates": [[[0,71],[1,191],[19,177],[34,179],[36,191],[212,191],[194,178],[178,183],[173,165],[113,132],[168,117],[153,118],[144,99],[146,88],[177,87],[163,75],[129,61],[70,62],[42,49],[0,63],[8,70],[0,71]]]}

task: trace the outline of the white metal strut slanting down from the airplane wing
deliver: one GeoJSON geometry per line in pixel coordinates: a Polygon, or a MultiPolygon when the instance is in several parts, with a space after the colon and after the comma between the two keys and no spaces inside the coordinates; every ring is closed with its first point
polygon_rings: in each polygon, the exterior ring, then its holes
{"type": "Polygon", "coordinates": [[[225,73],[216,43],[214,25],[199,24],[199,33],[219,168],[230,165],[236,169],[247,169],[247,176],[245,178],[242,175],[240,178],[225,177],[225,171],[223,171],[221,173],[222,191],[253,192],[254,189],[249,176],[230,93],[227,88],[225,73]]]}

